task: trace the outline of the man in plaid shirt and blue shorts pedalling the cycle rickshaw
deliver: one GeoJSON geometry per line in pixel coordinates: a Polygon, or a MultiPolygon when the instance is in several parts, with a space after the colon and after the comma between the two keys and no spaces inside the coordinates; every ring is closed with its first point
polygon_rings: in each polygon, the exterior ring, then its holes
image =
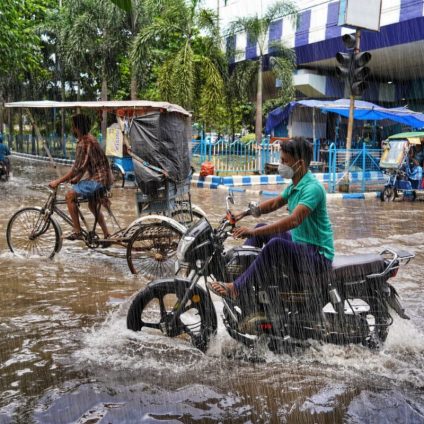
{"type": "Polygon", "coordinates": [[[83,239],[76,203],[78,198],[88,199],[88,207],[97,218],[104,238],[110,236],[99,202],[109,207],[109,200],[101,197],[112,186],[113,177],[107,157],[97,139],[90,134],[90,128],[91,122],[87,115],[80,113],[72,116],[72,132],[78,139],[75,162],[66,175],[49,184],[52,189],[68,181],[73,184],[72,190],[65,197],[73,223],[73,232],[66,237],[67,240],[83,239]]]}

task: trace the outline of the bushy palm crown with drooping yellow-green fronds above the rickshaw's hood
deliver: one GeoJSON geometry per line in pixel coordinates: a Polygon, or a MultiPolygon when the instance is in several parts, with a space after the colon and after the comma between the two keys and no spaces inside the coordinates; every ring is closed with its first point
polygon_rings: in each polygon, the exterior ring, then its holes
{"type": "Polygon", "coordinates": [[[132,62],[139,73],[157,72],[163,100],[196,113],[202,107],[202,92],[215,102],[223,98],[221,70],[225,59],[216,14],[201,9],[200,3],[147,0],[152,21],[135,38],[132,50],[132,62]]]}

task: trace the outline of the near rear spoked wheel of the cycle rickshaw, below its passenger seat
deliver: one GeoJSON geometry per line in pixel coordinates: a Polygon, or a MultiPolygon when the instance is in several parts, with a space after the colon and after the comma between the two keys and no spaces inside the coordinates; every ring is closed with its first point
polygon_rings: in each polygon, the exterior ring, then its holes
{"type": "Polygon", "coordinates": [[[181,236],[166,222],[141,224],[127,246],[131,272],[153,278],[173,275],[181,236]]]}

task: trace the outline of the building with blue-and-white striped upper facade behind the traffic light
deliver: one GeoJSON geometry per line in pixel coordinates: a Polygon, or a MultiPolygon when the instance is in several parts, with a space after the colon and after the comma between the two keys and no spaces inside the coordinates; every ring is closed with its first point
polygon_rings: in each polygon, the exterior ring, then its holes
{"type": "MultiPolygon", "coordinates": [[[[219,12],[221,31],[225,34],[231,21],[240,16],[261,15],[273,3],[208,0],[206,6],[219,12]]],[[[295,49],[297,97],[346,97],[344,83],[335,77],[335,55],[344,51],[341,36],[353,30],[338,26],[339,1],[295,3],[299,10],[298,25],[289,16],[277,19],[270,27],[268,42],[281,40],[295,49]]],[[[227,42],[233,43],[238,52],[233,58],[235,62],[257,56],[257,47],[246,34],[239,33],[227,42]]],[[[363,95],[364,100],[386,106],[407,104],[412,109],[424,110],[424,0],[383,0],[380,31],[361,31],[361,51],[372,54],[370,87],[363,95]]],[[[272,96],[275,81],[265,87],[268,97],[272,96]]]]}

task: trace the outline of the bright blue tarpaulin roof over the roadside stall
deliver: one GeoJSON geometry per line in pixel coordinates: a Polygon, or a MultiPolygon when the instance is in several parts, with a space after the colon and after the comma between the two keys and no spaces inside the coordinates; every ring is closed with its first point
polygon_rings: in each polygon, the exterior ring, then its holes
{"type": "MultiPolygon", "coordinates": [[[[348,118],[349,105],[349,99],[299,100],[297,102],[290,102],[285,107],[278,107],[268,114],[265,130],[266,133],[269,134],[271,130],[278,125],[287,124],[293,109],[296,107],[317,108],[322,112],[333,112],[348,118]]],[[[384,108],[362,100],[355,100],[354,119],[360,121],[380,121],[382,119],[389,119],[404,125],[409,125],[414,129],[424,128],[424,114],[422,113],[414,112],[406,107],[384,108]]]]}

